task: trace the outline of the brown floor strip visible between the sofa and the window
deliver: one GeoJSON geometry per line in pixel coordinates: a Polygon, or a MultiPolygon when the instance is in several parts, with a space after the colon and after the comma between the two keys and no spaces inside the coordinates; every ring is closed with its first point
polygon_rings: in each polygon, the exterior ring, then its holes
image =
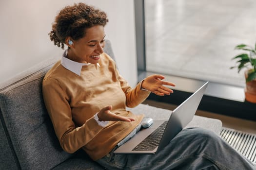
{"type": "MultiPolygon", "coordinates": [[[[174,110],[177,107],[176,105],[173,105],[173,104],[156,102],[152,100],[146,100],[143,102],[143,104],[148,104],[151,106],[168,109],[168,110],[174,110]]],[[[207,118],[220,119],[222,121],[223,127],[235,129],[235,130],[250,133],[250,134],[256,134],[256,121],[238,119],[238,118],[224,116],[224,115],[220,115],[212,112],[206,112],[202,110],[197,110],[196,115],[207,117],[207,118]]]]}

